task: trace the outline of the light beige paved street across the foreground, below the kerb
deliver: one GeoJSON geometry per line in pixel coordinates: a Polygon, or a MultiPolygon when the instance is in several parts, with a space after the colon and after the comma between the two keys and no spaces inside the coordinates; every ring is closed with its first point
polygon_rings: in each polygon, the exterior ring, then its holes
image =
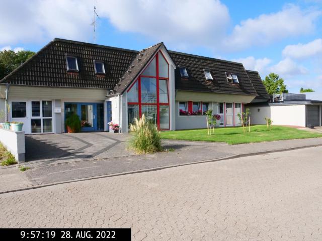
{"type": "Polygon", "coordinates": [[[321,240],[321,147],[0,194],[0,227],[132,240],[321,240]]]}

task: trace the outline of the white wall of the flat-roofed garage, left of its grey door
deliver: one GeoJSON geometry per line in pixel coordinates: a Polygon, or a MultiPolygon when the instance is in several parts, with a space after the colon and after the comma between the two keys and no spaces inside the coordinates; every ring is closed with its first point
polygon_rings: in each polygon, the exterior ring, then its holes
{"type": "Polygon", "coordinates": [[[265,117],[273,121],[273,125],[305,127],[305,105],[270,105],[246,106],[250,108],[251,124],[266,125],[265,117]],[[258,109],[260,111],[258,111],[258,109]]]}

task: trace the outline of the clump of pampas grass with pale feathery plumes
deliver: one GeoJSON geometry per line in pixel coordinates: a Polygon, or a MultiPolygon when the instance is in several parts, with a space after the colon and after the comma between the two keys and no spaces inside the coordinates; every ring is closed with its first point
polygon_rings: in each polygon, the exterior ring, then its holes
{"type": "Polygon", "coordinates": [[[160,132],[157,127],[147,122],[144,114],[138,120],[135,118],[135,124],[130,124],[132,132],[132,139],[130,140],[130,147],[137,154],[146,154],[162,151],[160,132]]]}

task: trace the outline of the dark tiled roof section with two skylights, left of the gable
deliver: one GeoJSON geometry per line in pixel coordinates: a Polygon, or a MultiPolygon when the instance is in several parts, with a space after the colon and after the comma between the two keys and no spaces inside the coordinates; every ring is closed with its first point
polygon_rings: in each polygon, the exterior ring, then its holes
{"type": "Polygon", "coordinates": [[[54,39],[1,82],[113,89],[136,55],[133,50],[54,39]],[[79,72],[67,72],[66,54],[77,57],[79,72]],[[104,62],[106,74],[95,74],[94,59],[104,62]]]}

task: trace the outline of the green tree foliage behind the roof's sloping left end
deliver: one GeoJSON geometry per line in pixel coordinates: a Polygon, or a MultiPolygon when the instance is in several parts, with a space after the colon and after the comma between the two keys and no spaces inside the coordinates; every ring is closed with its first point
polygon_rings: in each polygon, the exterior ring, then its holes
{"type": "Polygon", "coordinates": [[[0,51],[0,79],[10,74],[34,54],[35,52],[29,50],[18,52],[13,50],[0,51]]]}

